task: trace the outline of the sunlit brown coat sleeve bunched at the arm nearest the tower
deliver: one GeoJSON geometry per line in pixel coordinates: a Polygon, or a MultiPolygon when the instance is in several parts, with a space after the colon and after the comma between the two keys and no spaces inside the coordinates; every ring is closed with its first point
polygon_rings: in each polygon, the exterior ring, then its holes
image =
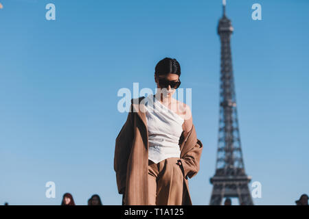
{"type": "Polygon", "coordinates": [[[188,151],[181,159],[181,168],[185,179],[194,177],[200,170],[200,159],[202,155],[203,144],[197,139],[195,146],[188,151]]]}

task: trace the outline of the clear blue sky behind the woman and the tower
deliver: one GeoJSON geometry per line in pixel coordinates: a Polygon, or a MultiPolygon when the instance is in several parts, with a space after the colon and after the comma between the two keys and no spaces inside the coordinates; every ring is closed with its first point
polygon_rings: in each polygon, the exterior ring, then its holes
{"type": "MultiPolygon", "coordinates": [[[[113,155],[127,113],[117,91],[155,90],[155,64],[181,64],[203,142],[190,179],[208,205],[218,140],[221,1],[0,0],[0,204],[120,205],[113,155]],[[45,5],[56,5],[56,21],[45,5]],[[56,198],[45,183],[56,183],[56,198]]],[[[262,183],[255,205],[295,205],[309,193],[309,29],[306,0],[227,1],[244,165],[262,183]],[[253,21],[251,5],[262,5],[253,21]]],[[[250,183],[250,185],[251,185],[250,183]]],[[[252,190],[252,188],[251,188],[252,190]]]]}

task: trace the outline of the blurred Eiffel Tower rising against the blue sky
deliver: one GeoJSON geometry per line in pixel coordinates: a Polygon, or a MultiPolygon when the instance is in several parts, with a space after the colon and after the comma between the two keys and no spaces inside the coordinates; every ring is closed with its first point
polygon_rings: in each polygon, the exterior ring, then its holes
{"type": "Polygon", "coordinates": [[[236,94],[231,63],[231,21],[223,15],[218,25],[221,41],[220,120],[216,173],[211,177],[213,185],[209,205],[221,205],[223,198],[238,198],[241,205],[253,205],[249,191],[251,177],[244,172],[240,132],[238,127],[236,94]]]}

